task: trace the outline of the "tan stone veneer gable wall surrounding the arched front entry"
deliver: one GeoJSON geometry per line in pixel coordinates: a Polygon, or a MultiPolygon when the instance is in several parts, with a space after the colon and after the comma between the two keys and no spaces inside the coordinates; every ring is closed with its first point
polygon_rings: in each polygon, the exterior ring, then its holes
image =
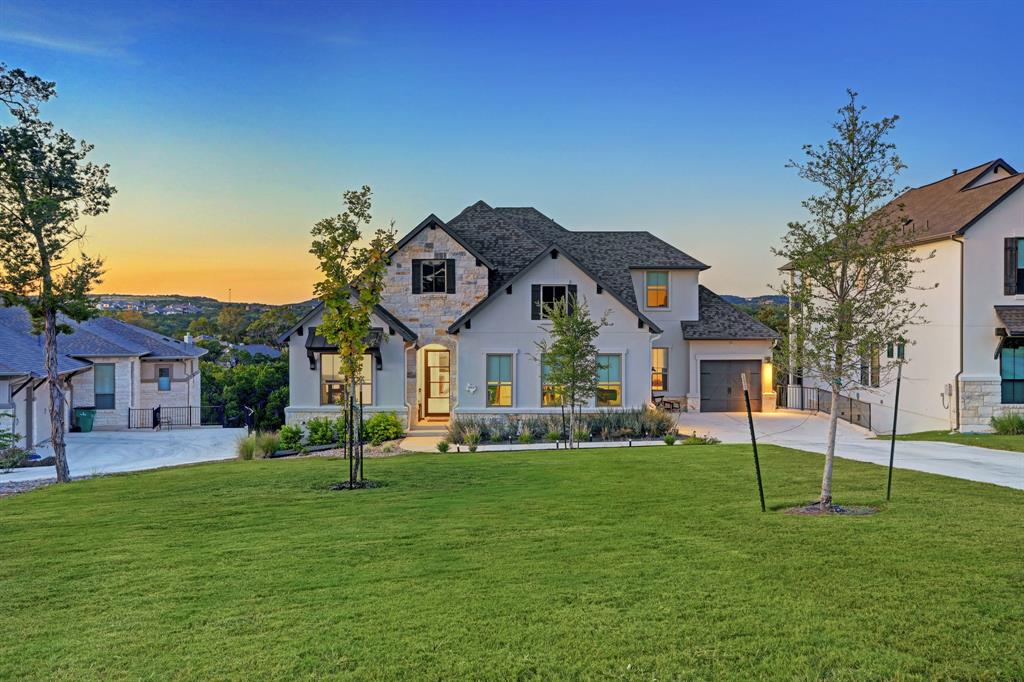
{"type": "MultiPolygon", "coordinates": [[[[459,399],[458,343],[449,326],[487,296],[487,268],[462,248],[443,229],[427,227],[406,244],[391,259],[381,305],[417,334],[419,347],[439,344],[452,352],[452,410],[459,399]],[[455,260],[454,294],[413,294],[414,258],[455,260]]],[[[411,406],[410,424],[417,418],[416,349],[408,351],[406,399],[411,406]]]]}

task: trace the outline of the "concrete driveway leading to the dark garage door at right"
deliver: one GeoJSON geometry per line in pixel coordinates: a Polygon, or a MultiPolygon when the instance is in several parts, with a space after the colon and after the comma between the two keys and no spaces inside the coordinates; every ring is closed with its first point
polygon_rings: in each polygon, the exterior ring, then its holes
{"type": "MultiPolygon", "coordinates": [[[[723,442],[751,440],[744,413],[683,413],[678,422],[680,431],[686,434],[693,431],[697,435],[711,434],[723,442]]],[[[754,430],[759,443],[824,454],[828,416],[790,411],[755,414],[754,430]]],[[[889,441],[874,440],[870,431],[840,421],[836,455],[888,466],[889,441]]],[[[1024,489],[1024,453],[945,442],[897,440],[895,466],[1024,489]]]]}

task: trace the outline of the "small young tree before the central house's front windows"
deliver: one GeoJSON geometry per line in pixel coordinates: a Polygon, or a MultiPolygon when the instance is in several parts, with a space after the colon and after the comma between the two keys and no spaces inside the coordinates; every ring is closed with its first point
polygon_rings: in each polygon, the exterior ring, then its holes
{"type": "Polygon", "coordinates": [[[568,408],[566,444],[571,449],[577,413],[597,394],[596,342],[601,328],[608,325],[607,313],[594,321],[586,300],[565,299],[545,306],[545,316],[551,325],[546,330],[550,338],[536,343],[538,360],[547,368],[545,382],[558,388],[563,407],[568,408]]]}

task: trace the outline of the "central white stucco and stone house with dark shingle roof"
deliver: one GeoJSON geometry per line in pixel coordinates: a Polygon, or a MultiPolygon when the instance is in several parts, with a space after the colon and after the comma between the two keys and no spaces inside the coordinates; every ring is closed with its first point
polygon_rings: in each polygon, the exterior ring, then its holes
{"type": "MultiPolygon", "coordinates": [[[[430,215],[391,254],[360,387],[369,412],[410,426],[452,415],[558,413],[537,342],[543,306],[583,300],[601,330],[600,392],[587,410],[636,408],[655,395],[690,410],[774,408],[777,335],[698,284],[708,266],[644,231],[570,231],[532,208],[477,202],[444,222],[430,215]]],[[[316,334],[322,306],[288,343],[288,423],[338,413],[335,348],[316,334]]]]}

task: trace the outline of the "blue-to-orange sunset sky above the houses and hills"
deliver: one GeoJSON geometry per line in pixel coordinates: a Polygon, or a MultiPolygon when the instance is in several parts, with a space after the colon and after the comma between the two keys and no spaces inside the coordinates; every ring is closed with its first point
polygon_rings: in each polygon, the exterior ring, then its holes
{"type": "Polygon", "coordinates": [[[810,185],[785,168],[845,89],[923,184],[1024,169],[1024,3],[124,3],[0,0],[0,60],[57,82],[96,145],[102,292],[290,302],[342,189],[399,232],[478,199],[648,229],[768,292],[810,185]]]}

